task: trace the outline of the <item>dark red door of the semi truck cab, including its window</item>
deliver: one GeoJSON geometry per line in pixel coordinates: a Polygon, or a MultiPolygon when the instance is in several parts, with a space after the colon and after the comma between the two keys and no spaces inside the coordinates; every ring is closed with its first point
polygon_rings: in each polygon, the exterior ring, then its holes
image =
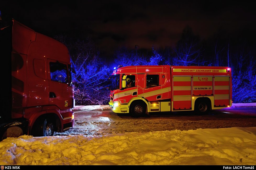
{"type": "Polygon", "coordinates": [[[72,107],[72,89],[68,86],[68,64],[48,59],[49,101],[60,110],[72,107]]]}

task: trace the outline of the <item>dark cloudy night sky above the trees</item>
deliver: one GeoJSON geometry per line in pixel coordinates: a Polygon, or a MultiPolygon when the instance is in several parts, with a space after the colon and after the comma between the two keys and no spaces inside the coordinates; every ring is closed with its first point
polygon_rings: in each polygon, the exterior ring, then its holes
{"type": "Polygon", "coordinates": [[[202,39],[218,29],[255,39],[256,13],[244,1],[3,1],[2,19],[14,18],[49,37],[92,37],[102,55],[119,46],[174,46],[186,26],[202,39]],[[200,3],[199,3],[200,2],[200,3]]]}

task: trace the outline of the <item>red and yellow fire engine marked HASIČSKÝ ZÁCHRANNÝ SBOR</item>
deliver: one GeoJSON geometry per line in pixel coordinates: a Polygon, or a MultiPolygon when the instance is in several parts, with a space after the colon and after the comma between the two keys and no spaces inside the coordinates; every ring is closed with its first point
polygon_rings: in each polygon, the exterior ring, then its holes
{"type": "Polygon", "coordinates": [[[119,66],[111,79],[109,105],[115,113],[205,113],[232,105],[229,67],[119,66]]]}

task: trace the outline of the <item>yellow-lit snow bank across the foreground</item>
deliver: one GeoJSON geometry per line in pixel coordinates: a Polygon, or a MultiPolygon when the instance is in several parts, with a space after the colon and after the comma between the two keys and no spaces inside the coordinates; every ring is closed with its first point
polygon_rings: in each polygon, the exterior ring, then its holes
{"type": "Polygon", "coordinates": [[[1,141],[0,154],[0,165],[255,165],[256,127],[23,135],[1,141]]]}

